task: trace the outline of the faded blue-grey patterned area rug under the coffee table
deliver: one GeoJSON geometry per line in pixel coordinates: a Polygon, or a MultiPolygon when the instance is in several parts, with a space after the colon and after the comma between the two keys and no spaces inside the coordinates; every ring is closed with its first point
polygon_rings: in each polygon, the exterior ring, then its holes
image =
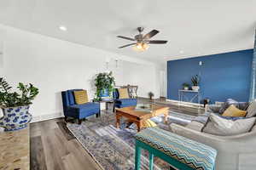
{"type": "MultiPolygon", "coordinates": [[[[158,124],[158,127],[169,129],[168,124],[176,122],[186,125],[195,117],[186,116],[177,112],[170,112],[167,125],[164,124],[163,117],[151,119],[158,124]]],[[[91,117],[82,122],[81,125],[67,123],[68,129],[79,140],[91,156],[106,170],[131,170],[134,169],[135,139],[137,133],[135,129],[125,128],[125,120],[121,123],[121,128],[115,127],[115,116],[108,112],[101,117],[91,117]]],[[[148,169],[148,152],[143,150],[142,168],[148,169]]],[[[155,170],[169,170],[169,165],[154,158],[155,170]]]]}

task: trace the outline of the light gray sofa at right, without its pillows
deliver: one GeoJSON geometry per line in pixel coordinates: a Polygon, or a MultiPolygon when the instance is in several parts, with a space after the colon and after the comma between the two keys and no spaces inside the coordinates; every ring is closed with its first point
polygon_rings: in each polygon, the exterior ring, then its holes
{"type": "MultiPolygon", "coordinates": [[[[224,105],[224,104],[222,104],[224,105]]],[[[241,103],[245,110],[248,103],[241,103]]],[[[248,133],[233,136],[218,136],[201,132],[211,112],[220,114],[221,105],[209,105],[204,116],[190,122],[186,127],[172,123],[171,131],[189,139],[207,144],[218,150],[217,170],[246,170],[256,168],[256,125],[248,133]]]]}

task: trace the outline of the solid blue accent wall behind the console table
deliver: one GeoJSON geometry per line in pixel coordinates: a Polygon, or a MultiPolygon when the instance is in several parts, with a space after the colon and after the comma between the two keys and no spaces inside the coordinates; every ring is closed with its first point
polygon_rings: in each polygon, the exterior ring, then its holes
{"type": "Polygon", "coordinates": [[[167,98],[178,99],[183,82],[201,76],[202,99],[248,101],[253,49],[167,61],[167,98]],[[199,65],[199,62],[202,65],[199,65]]]}

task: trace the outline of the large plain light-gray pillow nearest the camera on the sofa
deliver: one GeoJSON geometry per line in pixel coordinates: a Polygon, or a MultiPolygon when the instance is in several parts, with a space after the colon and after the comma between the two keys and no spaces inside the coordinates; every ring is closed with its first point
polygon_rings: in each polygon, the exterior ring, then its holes
{"type": "Polygon", "coordinates": [[[247,133],[253,127],[256,117],[238,119],[236,121],[227,120],[221,116],[211,114],[208,122],[203,127],[202,132],[220,136],[230,136],[247,133]]]}

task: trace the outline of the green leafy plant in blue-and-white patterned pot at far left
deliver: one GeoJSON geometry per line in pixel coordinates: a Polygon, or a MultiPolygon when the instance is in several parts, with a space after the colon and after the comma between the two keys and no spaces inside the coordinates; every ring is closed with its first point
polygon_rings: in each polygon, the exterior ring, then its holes
{"type": "Polygon", "coordinates": [[[38,95],[38,88],[31,83],[26,85],[22,82],[17,88],[20,93],[12,92],[9,83],[0,77],[0,107],[3,110],[0,127],[5,131],[24,128],[32,120],[32,115],[28,111],[32,100],[38,95]]]}

